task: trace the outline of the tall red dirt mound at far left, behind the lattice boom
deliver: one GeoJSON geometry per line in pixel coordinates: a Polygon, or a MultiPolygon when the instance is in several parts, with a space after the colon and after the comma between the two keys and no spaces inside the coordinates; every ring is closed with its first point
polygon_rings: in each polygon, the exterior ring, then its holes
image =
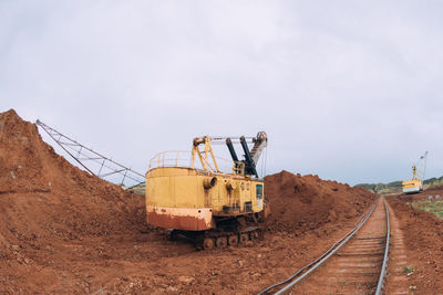
{"type": "Polygon", "coordinates": [[[137,231],[145,223],[143,208],[143,196],[90,176],[56,155],[37,126],[13,109],[0,114],[3,278],[14,273],[21,277],[32,262],[48,263],[42,250],[52,251],[58,241],[137,231]]]}

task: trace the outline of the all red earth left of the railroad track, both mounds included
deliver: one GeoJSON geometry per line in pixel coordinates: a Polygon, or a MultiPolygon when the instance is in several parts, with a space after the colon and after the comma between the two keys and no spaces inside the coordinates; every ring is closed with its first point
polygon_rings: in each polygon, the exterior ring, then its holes
{"type": "Polygon", "coordinates": [[[0,114],[0,293],[250,294],[322,253],[375,196],[287,171],[265,179],[266,239],[197,252],[145,223],[144,197],[73,167],[0,114]]]}

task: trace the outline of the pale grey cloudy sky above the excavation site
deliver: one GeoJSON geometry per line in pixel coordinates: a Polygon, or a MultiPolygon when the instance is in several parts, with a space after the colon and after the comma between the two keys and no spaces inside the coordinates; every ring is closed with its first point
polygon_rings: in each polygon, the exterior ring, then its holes
{"type": "Polygon", "coordinates": [[[136,170],[269,136],[267,172],[443,175],[443,1],[0,0],[0,109],[136,170]]]}

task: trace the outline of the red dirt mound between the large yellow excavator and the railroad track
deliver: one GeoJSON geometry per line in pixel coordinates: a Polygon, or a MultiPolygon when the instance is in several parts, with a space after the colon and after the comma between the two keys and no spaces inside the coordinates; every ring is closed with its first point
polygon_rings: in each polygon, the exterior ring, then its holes
{"type": "Polygon", "coordinates": [[[360,215],[377,198],[361,188],[288,171],[267,176],[265,191],[271,209],[267,228],[296,234],[360,215]]]}

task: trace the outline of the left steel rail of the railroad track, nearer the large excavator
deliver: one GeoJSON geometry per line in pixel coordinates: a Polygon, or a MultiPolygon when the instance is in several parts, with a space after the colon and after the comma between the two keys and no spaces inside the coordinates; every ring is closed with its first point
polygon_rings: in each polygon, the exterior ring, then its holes
{"type": "Polygon", "coordinates": [[[352,229],[349,233],[347,233],[343,238],[341,238],[339,241],[337,241],[330,249],[328,249],[323,254],[321,254],[318,259],[316,259],[315,261],[310,262],[309,264],[305,265],[303,267],[301,267],[300,270],[298,270],[296,273],[293,273],[291,276],[289,276],[288,278],[276,283],[274,285],[270,285],[268,287],[266,287],[265,289],[262,289],[260,293],[258,293],[258,295],[264,295],[267,294],[269,291],[271,291],[272,288],[279,287],[284,284],[287,284],[285,287],[282,287],[281,289],[279,289],[278,292],[276,292],[275,294],[286,294],[289,291],[292,289],[292,287],[299,283],[301,280],[303,280],[307,275],[309,275],[311,272],[313,272],[316,268],[318,268],[321,264],[323,264],[330,256],[332,256],[341,246],[343,246],[359,230],[361,226],[363,226],[363,224],[365,223],[365,221],[369,219],[369,217],[372,214],[373,210],[375,209],[377,204],[379,203],[380,198],[377,199],[377,201],[374,202],[374,204],[372,206],[371,210],[363,215],[359,222],[357,222],[356,228],[352,229]],[[307,272],[305,272],[303,274],[301,274],[303,271],[308,270],[307,272]],[[298,276],[299,274],[301,274],[300,276],[298,276]],[[298,276],[298,277],[297,277],[298,276]],[[297,277],[297,278],[296,278],[297,277]],[[292,281],[293,280],[293,281],[292,281]],[[291,282],[292,281],[292,282],[291,282]]]}

